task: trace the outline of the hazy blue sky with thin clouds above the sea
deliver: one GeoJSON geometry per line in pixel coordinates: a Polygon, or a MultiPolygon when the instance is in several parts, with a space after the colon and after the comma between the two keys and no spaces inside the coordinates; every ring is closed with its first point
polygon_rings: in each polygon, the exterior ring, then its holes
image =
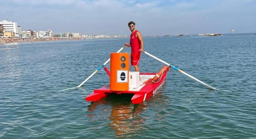
{"type": "Polygon", "coordinates": [[[0,20],[21,30],[87,35],[255,33],[256,0],[1,0],[0,20]]]}

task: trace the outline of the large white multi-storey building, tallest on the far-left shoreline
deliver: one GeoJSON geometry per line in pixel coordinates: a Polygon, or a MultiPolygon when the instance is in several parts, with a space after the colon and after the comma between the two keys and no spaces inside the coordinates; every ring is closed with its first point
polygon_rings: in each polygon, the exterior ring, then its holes
{"type": "Polygon", "coordinates": [[[18,25],[17,22],[12,22],[6,20],[0,21],[0,24],[3,25],[3,30],[5,32],[14,32],[16,37],[19,37],[18,25]]]}

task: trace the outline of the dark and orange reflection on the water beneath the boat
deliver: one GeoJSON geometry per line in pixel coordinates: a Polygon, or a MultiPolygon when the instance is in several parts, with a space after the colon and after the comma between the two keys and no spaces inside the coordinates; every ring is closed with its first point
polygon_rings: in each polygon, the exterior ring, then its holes
{"type": "MultiPolygon", "coordinates": [[[[94,102],[88,106],[89,111],[95,111],[98,105],[105,104],[111,106],[111,112],[108,119],[111,129],[116,133],[116,137],[132,137],[134,133],[142,132],[142,126],[145,124],[145,118],[140,114],[147,109],[145,104],[132,104],[130,94],[113,94],[106,99],[94,102]],[[131,134],[132,133],[132,134],[131,134]]],[[[95,115],[88,115],[95,116],[95,115]]]]}

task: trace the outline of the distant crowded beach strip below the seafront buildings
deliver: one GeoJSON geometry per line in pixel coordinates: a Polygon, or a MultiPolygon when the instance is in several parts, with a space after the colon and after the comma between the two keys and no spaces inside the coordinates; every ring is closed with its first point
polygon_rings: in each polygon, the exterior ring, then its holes
{"type": "Polygon", "coordinates": [[[80,38],[0,38],[0,44],[9,44],[13,42],[40,42],[53,40],[79,40],[80,38]]]}

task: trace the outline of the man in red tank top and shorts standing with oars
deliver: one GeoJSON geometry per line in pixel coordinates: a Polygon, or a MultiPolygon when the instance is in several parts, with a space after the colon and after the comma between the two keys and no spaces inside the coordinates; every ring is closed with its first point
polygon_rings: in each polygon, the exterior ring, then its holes
{"type": "Polygon", "coordinates": [[[143,51],[143,39],[140,32],[135,30],[135,23],[133,21],[128,23],[128,27],[131,30],[130,44],[126,42],[124,45],[131,47],[131,65],[135,68],[135,71],[139,72],[138,64],[140,61],[140,52],[143,51]]]}

